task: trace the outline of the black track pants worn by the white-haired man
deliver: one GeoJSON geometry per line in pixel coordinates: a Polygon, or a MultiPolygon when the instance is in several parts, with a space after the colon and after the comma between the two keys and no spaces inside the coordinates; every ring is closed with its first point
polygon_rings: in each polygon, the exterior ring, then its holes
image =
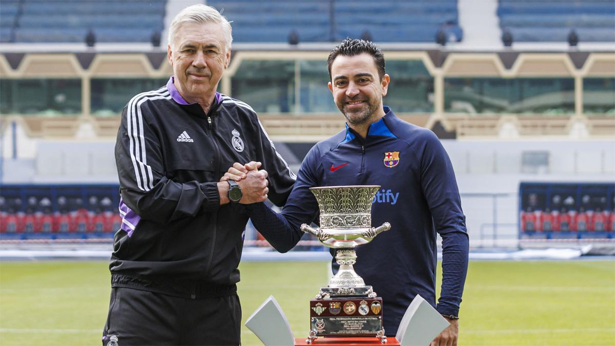
{"type": "Polygon", "coordinates": [[[185,299],[131,288],[112,288],[103,346],[239,345],[237,294],[185,299]]]}

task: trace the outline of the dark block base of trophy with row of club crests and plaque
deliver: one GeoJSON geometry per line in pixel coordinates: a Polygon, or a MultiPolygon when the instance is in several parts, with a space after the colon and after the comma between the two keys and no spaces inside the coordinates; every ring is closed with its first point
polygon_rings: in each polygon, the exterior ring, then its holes
{"type": "Polygon", "coordinates": [[[380,297],[335,297],[310,300],[311,336],[383,337],[380,297]]]}

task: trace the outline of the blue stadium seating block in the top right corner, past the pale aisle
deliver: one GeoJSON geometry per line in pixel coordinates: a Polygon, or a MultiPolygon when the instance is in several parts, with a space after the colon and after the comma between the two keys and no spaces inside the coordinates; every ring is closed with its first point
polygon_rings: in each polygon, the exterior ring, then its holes
{"type": "Polygon", "coordinates": [[[581,42],[615,42],[612,0],[499,0],[498,15],[518,42],[566,42],[571,30],[581,42]]]}

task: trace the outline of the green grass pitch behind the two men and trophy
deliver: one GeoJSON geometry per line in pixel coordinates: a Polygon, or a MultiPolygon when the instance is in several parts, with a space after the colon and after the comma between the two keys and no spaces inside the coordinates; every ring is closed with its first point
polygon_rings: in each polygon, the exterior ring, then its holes
{"type": "MultiPolygon", "coordinates": [[[[240,270],[244,322],[272,294],[307,335],[328,264],[240,270]]],[[[1,262],[0,345],[100,345],[109,291],[106,262],[1,262]]],[[[615,262],[470,262],[460,316],[459,345],[615,345],[615,262]]],[[[261,345],[245,327],[242,340],[261,345]]]]}

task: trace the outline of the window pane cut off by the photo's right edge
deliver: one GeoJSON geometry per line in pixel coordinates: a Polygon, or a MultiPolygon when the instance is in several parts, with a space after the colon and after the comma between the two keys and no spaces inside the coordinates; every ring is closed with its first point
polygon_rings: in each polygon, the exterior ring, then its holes
{"type": "Polygon", "coordinates": [[[615,115],[615,78],[583,79],[583,112],[615,115]]]}

